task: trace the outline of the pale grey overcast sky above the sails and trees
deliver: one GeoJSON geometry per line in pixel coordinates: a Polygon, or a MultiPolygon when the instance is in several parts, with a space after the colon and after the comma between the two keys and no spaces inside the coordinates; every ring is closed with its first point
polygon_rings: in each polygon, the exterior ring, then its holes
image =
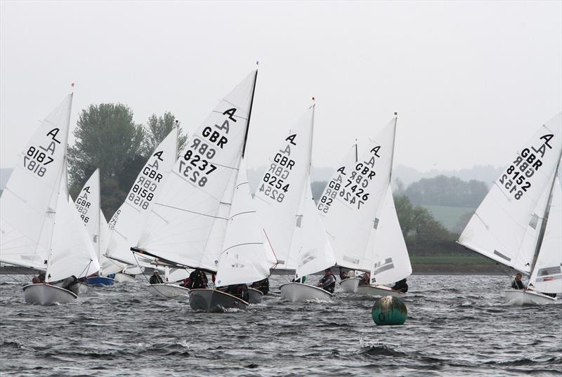
{"type": "MultiPolygon", "coordinates": [[[[316,98],[313,164],[398,112],[395,165],[503,166],[562,110],[561,1],[1,1],[0,167],[74,89],[195,128],[259,60],[247,157],[316,98]]],[[[364,143],[364,142],[363,142],[364,143]]]]}

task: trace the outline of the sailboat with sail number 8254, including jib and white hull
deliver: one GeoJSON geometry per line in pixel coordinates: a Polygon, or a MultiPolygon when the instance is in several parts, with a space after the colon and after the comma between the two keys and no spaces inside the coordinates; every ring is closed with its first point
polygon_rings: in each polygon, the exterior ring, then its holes
{"type": "MultiPolygon", "coordinates": [[[[315,105],[275,151],[255,197],[268,241],[277,256],[275,270],[294,270],[295,281],[335,263],[311,190],[314,111],[315,105]]],[[[332,298],[332,293],[318,286],[299,282],[282,284],[280,291],[282,298],[292,302],[332,298]]]]}

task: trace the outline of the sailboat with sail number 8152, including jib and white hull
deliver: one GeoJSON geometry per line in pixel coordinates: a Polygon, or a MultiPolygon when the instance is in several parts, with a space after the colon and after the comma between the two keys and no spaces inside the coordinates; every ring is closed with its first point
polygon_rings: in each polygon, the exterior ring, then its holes
{"type": "Polygon", "coordinates": [[[562,293],[562,112],[523,145],[457,241],[523,275],[527,289],[505,291],[511,305],[547,304],[562,293]]]}

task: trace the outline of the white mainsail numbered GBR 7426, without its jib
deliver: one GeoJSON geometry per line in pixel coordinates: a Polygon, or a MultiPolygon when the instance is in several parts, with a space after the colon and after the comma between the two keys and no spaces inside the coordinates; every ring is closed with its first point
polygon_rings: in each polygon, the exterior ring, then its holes
{"type": "Polygon", "coordinates": [[[373,250],[369,248],[377,228],[377,213],[390,183],[396,118],[374,138],[357,162],[346,168],[348,176],[324,216],[324,227],[337,264],[370,271],[373,250]]]}

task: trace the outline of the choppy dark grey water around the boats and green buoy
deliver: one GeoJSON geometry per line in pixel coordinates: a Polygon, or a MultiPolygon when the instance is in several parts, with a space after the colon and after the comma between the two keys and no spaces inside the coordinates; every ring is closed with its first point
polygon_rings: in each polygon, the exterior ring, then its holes
{"type": "MultiPolygon", "coordinates": [[[[147,282],[26,305],[0,277],[3,376],[560,376],[562,305],[511,307],[506,277],[412,276],[403,326],[376,326],[372,298],[266,298],[246,312],[192,312],[147,282]]],[[[273,277],[272,288],[282,282],[273,277]]],[[[560,301],[560,300],[559,300],[560,301]]]]}

